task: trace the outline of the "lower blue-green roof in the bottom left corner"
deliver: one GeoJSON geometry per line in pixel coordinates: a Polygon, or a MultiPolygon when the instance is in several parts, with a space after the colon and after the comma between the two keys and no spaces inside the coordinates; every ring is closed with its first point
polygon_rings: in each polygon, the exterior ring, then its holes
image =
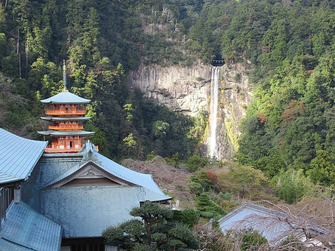
{"type": "Polygon", "coordinates": [[[0,250],[58,251],[62,227],[24,202],[13,203],[0,232],[0,250]]]}

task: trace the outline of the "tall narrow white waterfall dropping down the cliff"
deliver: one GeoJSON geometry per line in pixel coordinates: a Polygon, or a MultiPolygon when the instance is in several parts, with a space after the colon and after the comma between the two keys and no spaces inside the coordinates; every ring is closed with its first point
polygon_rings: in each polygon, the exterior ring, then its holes
{"type": "Polygon", "coordinates": [[[220,67],[212,68],[212,80],[210,87],[210,138],[209,138],[209,155],[218,159],[218,149],[216,140],[216,117],[217,101],[219,89],[220,67]]]}

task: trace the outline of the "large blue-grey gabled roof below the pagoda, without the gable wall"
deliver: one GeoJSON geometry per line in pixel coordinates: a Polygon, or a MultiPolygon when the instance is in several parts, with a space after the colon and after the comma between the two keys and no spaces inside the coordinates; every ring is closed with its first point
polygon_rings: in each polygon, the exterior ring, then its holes
{"type": "Polygon", "coordinates": [[[107,226],[132,219],[129,211],[139,206],[141,201],[171,199],[159,189],[151,175],[141,174],[115,163],[97,153],[89,142],[80,154],[44,154],[28,181],[21,185],[21,191],[24,201],[63,226],[63,236],[67,238],[101,237],[107,226]],[[79,164],[87,153],[93,153],[93,160],[79,164]],[[45,188],[90,162],[135,185],[45,188]]]}

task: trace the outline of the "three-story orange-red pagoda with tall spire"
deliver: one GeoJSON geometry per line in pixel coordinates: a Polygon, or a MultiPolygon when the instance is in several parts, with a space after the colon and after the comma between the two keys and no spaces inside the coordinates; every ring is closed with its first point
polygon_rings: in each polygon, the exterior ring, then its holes
{"type": "Polygon", "coordinates": [[[51,145],[45,149],[46,153],[75,153],[81,149],[81,139],[94,132],[82,131],[79,123],[89,120],[90,117],[83,117],[86,114],[86,105],[89,99],[78,97],[66,88],[66,66],[63,66],[64,89],[47,99],[41,100],[44,104],[47,117],[41,117],[53,123],[48,131],[38,132],[44,136],[51,137],[51,145]]]}

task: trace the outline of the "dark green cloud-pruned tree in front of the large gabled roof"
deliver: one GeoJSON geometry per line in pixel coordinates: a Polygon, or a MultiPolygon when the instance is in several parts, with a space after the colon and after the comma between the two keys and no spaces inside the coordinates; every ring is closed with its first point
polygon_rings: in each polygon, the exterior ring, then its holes
{"type": "Polygon", "coordinates": [[[173,212],[167,207],[147,201],[134,207],[130,215],[142,221],[134,219],[105,229],[102,236],[107,245],[126,250],[191,250],[198,247],[186,225],[171,221],[173,212]]]}

